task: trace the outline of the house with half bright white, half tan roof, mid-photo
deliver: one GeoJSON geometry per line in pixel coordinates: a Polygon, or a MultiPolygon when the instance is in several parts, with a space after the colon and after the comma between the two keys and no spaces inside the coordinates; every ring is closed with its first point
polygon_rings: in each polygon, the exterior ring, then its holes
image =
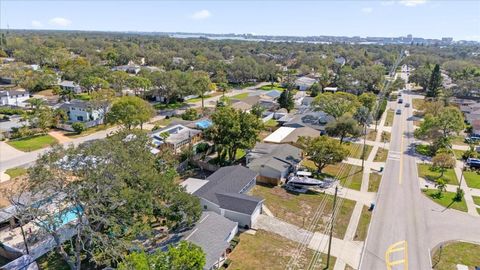
{"type": "Polygon", "coordinates": [[[266,143],[290,143],[295,144],[300,137],[318,137],[320,132],[311,127],[280,127],[272,134],[263,139],[266,143]]]}

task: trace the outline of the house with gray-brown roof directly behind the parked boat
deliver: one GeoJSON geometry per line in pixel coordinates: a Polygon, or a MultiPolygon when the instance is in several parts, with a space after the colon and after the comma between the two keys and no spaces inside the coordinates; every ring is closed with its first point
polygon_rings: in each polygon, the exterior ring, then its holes
{"type": "Polygon", "coordinates": [[[257,172],[257,182],[278,185],[302,161],[302,150],[285,144],[257,143],[246,156],[247,167],[257,172]]]}

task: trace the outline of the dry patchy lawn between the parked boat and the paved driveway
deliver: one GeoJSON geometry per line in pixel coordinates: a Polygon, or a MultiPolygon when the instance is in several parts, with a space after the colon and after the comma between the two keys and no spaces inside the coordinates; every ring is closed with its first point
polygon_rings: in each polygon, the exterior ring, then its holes
{"type": "MultiPolygon", "coordinates": [[[[266,187],[257,185],[252,194],[265,199],[265,204],[273,215],[281,220],[301,228],[307,228],[312,223],[314,213],[320,206],[322,215],[318,220],[315,231],[324,232],[330,219],[333,206],[333,196],[324,193],[308,192],[298,194],[287,192],[282,187],[266,187]]],[[[352,215],[354,201],[343,200],[342,207],[337,213],[334,236],[343,238],[352,215]]]]}

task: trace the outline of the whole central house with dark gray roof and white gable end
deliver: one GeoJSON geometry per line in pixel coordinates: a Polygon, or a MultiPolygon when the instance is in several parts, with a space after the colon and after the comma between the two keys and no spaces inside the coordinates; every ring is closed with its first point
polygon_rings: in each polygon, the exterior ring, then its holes
{"type": "Polygon", "coordinates": [[[213,211],[239,226],[250,228],[261,213],[263,199],[247,195],[256,184],[258,173],[243,166],[227,166],[207,177],[193,195],[205,211],[213,211]]]}

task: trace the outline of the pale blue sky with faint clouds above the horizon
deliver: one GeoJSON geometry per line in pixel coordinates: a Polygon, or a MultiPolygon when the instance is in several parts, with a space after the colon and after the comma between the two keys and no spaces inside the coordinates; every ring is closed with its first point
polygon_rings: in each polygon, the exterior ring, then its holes
{"type": "Polygon", "coordinates": [[[386,36],[480,41],[480,0],[0,0],[4,29],[386,36]]]}

